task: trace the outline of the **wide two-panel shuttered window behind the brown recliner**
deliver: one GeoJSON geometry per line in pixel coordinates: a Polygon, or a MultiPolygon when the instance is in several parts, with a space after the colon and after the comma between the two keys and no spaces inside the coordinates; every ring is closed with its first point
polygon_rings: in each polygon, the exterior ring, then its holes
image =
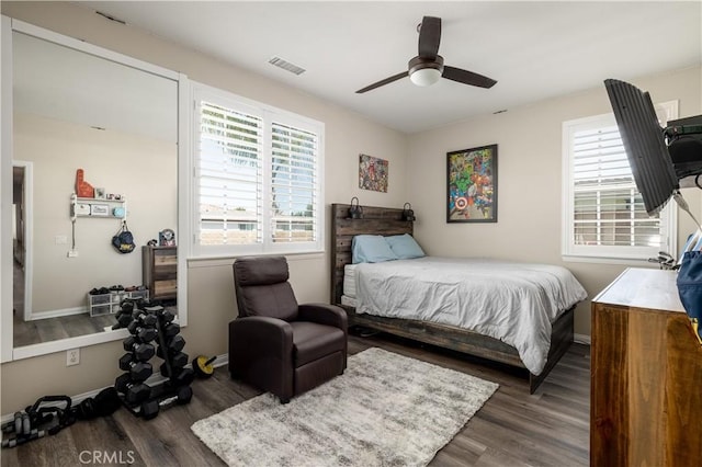
{"type": "Polygon", "coordinates": [[[194,87],[193,253],[322,250],[324,124],[194,87]]]}

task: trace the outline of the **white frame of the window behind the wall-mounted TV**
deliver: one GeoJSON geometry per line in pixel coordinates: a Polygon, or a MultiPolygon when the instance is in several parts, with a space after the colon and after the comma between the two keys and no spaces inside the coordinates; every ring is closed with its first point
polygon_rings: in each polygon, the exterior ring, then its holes
{"type": "MultiPolygon", "coordinates": [[[[678,101],[667,101],[655,105],[657,113],[663,112],[667,122],[678,118],[678,101]]],[[[563,123],[563,216],[562,216],[562,257],[564,261],[592,262],[647,262],[649,258],[666,251],[673,257],[677,251],[678,209],[669,202],[660,210],[661,236],[659,247],[625,246],[584,246],[574,241],[575,232],[575,183],[574,183],[574,136],[577,132],[616,126],[613,113],[575,118],[563,123]]]]}

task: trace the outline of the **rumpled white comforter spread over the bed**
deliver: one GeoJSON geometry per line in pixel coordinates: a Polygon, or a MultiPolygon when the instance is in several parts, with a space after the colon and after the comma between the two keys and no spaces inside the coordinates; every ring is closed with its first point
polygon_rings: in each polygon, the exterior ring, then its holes
{"type": "Polygon", "coordinates": [[[458,326],[513,346],[534,375],[551,348],[551,324],[587,298],[565,267],[426,257],[363,263],[356,312],[458,326]]]}

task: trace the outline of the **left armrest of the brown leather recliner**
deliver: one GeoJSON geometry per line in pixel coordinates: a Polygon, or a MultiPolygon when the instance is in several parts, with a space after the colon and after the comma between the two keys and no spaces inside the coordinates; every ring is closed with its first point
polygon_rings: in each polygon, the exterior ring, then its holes
{"type": "Polygon", "coordinates": [[[229,342],[258,355],[284,357],[293,351],[293,328],[287,321],[267,316],[249,316],[229,322],[229,342]]]}

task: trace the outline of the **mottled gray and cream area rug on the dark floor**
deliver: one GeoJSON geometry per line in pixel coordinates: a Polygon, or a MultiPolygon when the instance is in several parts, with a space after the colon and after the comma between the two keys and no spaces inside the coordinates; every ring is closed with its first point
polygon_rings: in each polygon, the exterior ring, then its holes
{"type": "Polygon", "coordinates": [[[424,466],[497,388],[367,349],[287,405],[267,392],[191,429],[230,466],[424,466]]]}

